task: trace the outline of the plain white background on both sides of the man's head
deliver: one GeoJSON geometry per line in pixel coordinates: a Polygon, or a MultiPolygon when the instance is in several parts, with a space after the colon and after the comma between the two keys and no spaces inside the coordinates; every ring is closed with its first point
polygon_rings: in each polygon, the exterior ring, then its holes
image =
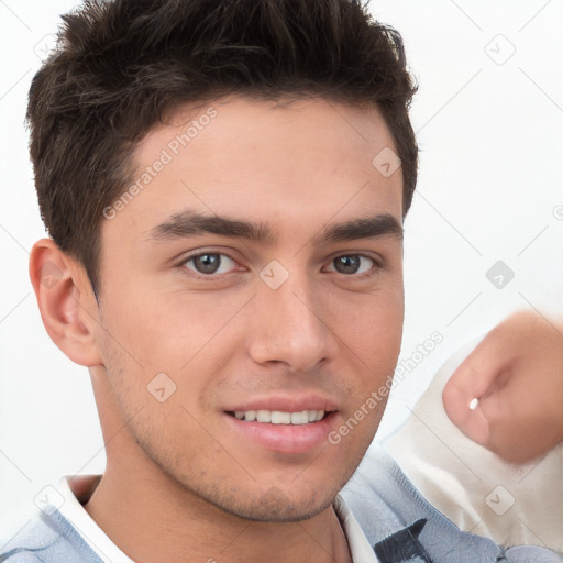
{"type": "MultiPolygon", "coordinates": [[[[44,229],[27,157],[26,93],[58,14],[75,4],[0,0],[5,523],[62,475],[104,467],[88,371],[48,339],[27,277],[29,251],[44,229]]],[[[372,11],[401,32],[420,86],[411,112],[421,153],[406,221],[401,358],[434,331],[444,338],[394,390],[380,438],[461,344],[514,310],[563,310],[563,0],[374,0],[372,11]],[[515,273],[501,289],[486,277],[497,261],[515,273]]]]}

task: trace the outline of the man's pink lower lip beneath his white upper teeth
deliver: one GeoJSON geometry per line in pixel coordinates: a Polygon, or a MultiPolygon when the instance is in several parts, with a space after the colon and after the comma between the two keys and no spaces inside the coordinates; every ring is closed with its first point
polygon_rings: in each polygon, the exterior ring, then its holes
{"type": "Polygon", "coordinates": [[[246,440],[273,452],[297,454],[307,453],[322,443],[328,443],[328,435],[335,426],[336,412],[329,412],[322,420],[308,424],[246,422],[231,415],[225,413],[225,417],[246,440]]]}

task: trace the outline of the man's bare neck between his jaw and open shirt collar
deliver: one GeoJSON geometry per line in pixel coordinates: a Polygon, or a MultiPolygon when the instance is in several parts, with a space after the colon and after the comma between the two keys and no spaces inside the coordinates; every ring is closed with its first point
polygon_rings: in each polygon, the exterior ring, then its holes
{"type": "MultiPolygon", "coordinates": [[[[99,380],[92,379],[95,388],[99,380]]],[[[99,391],[99,389],[98,389],[99,391]]],[[[131,437],[109,394],[96,394],[108,465],[86,510],[139,563],[350,563],[332,506],[296,522],[228,514],[163,472],[131,437]]]]}

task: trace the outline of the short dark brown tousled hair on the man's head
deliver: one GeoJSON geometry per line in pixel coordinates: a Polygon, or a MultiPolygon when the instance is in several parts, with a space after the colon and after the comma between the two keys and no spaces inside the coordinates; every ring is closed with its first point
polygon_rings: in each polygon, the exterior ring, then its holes
{"type": "Polygon", "coordinates": [[[400,35],[360,0],[90,0],[63,16],[30,89],[30,153],[45,227],[98,296],[103,209],[133,177],[133,151],[180,104],[233,92],[377,104],[417,181],[400,35]]]}

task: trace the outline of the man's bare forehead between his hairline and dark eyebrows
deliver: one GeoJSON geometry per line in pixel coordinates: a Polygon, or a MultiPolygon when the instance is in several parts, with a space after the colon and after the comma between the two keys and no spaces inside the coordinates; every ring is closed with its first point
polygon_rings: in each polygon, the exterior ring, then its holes
{"type": "Polygon", "coordinates": [[[303,234],[314,218],[385,212],[400,222],[400,167],[384,174],[380,154],[396,150],[373,106],[229,97],[184,107],[135,150],[137,188],[118,218],[144,234],[185,209],[274,228],[291,218],[303,234]]]}

